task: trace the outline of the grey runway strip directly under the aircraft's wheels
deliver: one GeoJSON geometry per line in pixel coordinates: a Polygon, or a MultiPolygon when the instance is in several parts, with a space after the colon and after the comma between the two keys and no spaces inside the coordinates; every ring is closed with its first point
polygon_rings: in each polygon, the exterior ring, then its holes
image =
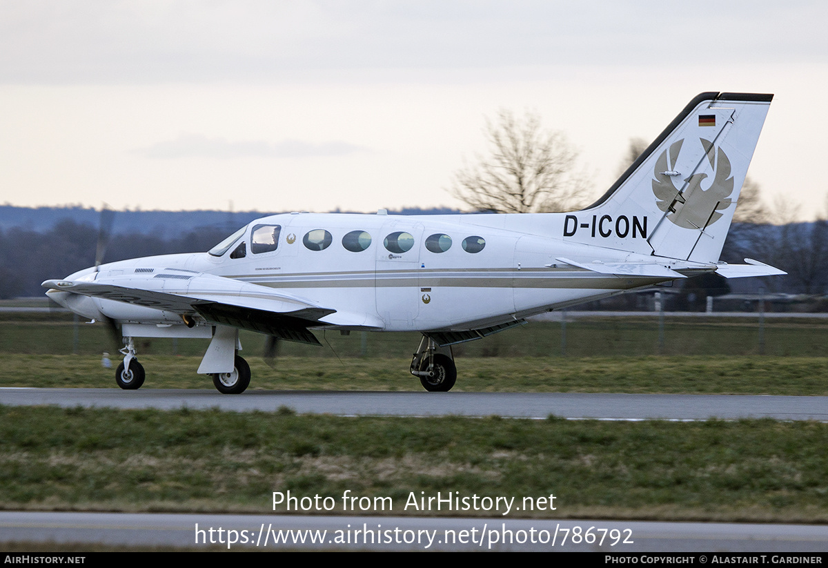
{"type": "Polygon", "coordinates": [[[776,420],[828,421],[828,397],[566,392],[317,392],[258,391],[222,395],[214,390],[115,388],[0,388],[0,404],[11,406],[113,408],[220,408],[339,416],[508,416],[599,420],[776,420]]]}

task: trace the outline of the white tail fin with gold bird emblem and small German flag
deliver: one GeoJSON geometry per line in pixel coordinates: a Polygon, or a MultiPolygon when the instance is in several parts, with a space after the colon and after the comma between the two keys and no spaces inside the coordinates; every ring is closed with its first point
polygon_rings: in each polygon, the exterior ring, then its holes
{"type": "Polygon", "coordinates": [[[719,260],[772,94],[702,93],[564,236],[635,253],[719,260]]]}

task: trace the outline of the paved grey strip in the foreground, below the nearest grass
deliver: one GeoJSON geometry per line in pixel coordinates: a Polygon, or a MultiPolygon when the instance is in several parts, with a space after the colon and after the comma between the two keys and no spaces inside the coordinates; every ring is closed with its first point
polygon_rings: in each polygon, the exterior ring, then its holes
{"type": "Polygon", "coordinates": [[[504,517],[0,512],[0,542],[15,541],[255,551],[802,554],[828,550],[828,527],[504,517]]]}

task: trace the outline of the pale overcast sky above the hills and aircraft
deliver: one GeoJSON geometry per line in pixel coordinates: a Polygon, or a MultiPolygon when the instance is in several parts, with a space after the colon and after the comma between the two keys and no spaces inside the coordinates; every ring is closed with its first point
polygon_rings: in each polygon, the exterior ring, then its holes
{"type": "Polygon", "coordinates": [[[594,194],[702,91],[774,93],[750,175],[825,212],[826,2],[0,0],[0,202],[461,206],[485,118],[566,132],[594,194]]]}

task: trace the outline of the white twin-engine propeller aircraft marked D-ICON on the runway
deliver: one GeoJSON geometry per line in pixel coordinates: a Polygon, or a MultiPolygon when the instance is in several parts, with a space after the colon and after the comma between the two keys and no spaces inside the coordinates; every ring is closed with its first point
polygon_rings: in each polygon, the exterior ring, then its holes
{"type": "Polygon", "coordinates": [[[238,394],[250,382],[238,330],[315,345],[318,330],[368,330],[421,332],[411,373],[445,392],[457,377],[451,345],[528,316],[705,272],[784,274],[719,262],[771,99],[698,95],[581,211],[279,214],[206,253],[111,262],[43,286],[121,326],[125,389],[144,382],[136,337],[210,339],[198,373],[238,394]]]}

